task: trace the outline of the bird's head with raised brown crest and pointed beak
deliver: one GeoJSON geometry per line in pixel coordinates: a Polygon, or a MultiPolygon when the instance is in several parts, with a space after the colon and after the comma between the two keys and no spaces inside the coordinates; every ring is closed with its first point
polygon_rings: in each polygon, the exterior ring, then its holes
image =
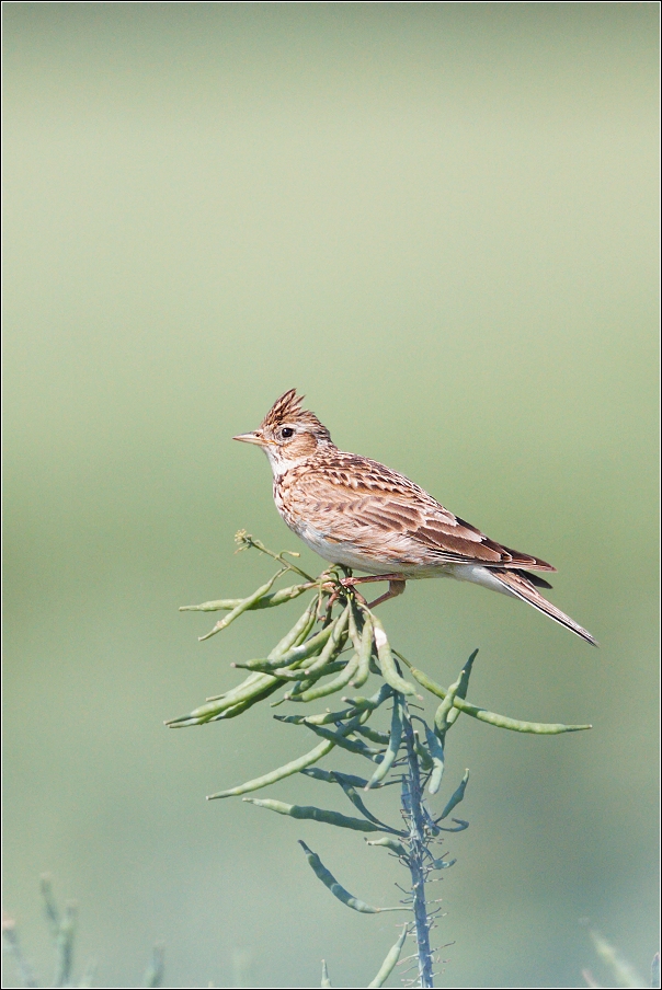
{"type": "Polygon", "coordinates": [[[333,447],[327,427],[315,413],[301,408],[303,400],[296,389],[289,389],[274,402],[258,429],[232,439],[262,447],[274,474],[300,464],[320,447],[333,447]]]}

